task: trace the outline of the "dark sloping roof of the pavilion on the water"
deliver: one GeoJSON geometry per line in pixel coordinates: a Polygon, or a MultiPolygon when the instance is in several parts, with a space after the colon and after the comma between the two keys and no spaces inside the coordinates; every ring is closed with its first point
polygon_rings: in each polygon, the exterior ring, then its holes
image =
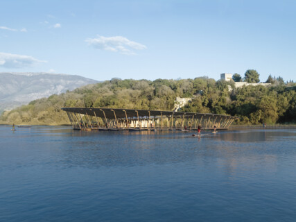
{"type": "Polygon", "coordinates": [[[107,119],[116,118],[146,118],[146,117],[184,117],[200,119],[201,117],[218,117],[217,119],[238,119],[238,117],[232,117],[220,114],[204,114],[196,112],[174,112],[174,111],[159,111],[159,110],[128,110],[128,109],[112,109],[112,108],[62,108],[66,112],[75,112],[80,114],[88,114],[89,116],[96,116],[107,119]],[[220,118],[219,118],[220,117],[220,118]]]}

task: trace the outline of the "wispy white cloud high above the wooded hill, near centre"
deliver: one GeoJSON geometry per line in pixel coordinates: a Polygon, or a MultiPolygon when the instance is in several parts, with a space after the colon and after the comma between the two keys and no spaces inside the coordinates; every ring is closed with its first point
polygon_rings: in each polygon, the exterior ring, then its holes
{"type": "Polygon", "coordinates": [[[98,35],[97,38],[88,38],[85,42],[96,49],[119,52],[125,55],[134,55],[134,50],[147,49],[143,44],[132,42],[122,36],[104,37],[98,35]]]}

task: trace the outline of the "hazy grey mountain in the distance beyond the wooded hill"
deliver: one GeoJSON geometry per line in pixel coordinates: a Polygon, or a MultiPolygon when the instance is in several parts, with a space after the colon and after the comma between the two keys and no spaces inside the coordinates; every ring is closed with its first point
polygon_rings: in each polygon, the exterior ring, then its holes
{"type": "Polygon", "coordinates": [[[76,75],[49,73],[0,73],[0,113],[30,101],[61,94],[96,80],[76,75]]]}

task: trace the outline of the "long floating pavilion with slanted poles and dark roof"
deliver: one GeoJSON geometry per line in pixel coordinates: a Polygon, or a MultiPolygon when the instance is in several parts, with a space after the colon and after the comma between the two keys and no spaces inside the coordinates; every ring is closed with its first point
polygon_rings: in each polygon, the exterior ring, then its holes
{"type": "Polygon", "coordinates": [[[78,130],[227,129],[238,117],[196,112],[113,108],[62,108],[78,130]]]}

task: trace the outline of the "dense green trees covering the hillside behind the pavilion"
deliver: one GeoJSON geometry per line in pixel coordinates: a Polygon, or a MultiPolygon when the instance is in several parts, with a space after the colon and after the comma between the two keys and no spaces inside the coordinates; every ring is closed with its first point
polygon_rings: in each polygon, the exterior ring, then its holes
{"type": "Polygon", "coordinates": [[[182,80],[121,80],[87,85],[71,92],[32,101],[4,112],[1,123],[69,123],[63,107],[173,110],[175,98],[193,98],[186,112],[231,114],[238,123],[286,123],[296,121],[295,83],[235,88],[234,82],[207,77],[182,80]],[[229,90],[229,87],[231,87],[229,90]]]}

